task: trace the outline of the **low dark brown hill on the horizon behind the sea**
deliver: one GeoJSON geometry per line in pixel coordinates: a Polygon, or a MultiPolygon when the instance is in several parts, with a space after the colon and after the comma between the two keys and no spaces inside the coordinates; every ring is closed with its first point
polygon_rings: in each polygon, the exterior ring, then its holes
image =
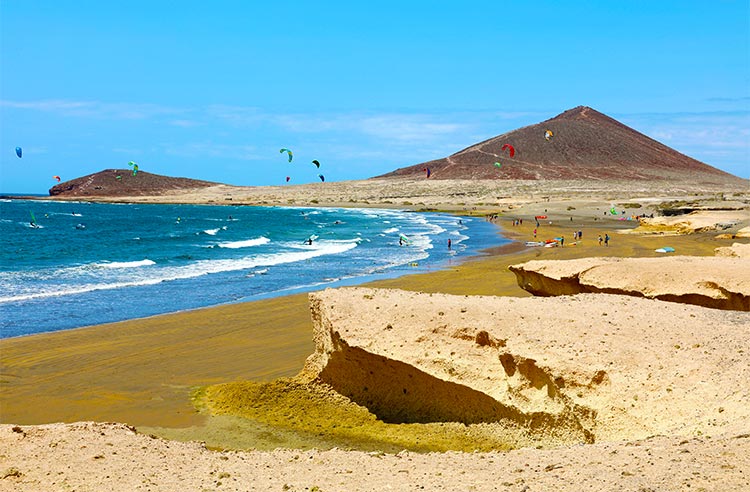
{"type": "Polygon", "coordinates": [[[162,195],[171,191],[184,191],[214,186],[218,183],[189,178],[172,178],[132,169],[105,169],[98,173],[65,181],[50,188],[51,196],[143,196],[162,195]]]}

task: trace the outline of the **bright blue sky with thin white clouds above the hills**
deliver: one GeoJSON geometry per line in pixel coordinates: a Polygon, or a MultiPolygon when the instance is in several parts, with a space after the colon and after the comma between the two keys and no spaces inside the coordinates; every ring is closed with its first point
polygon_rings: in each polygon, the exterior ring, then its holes
{"type": "Polygon", "coordinates": [[[749,10],[3,0],[0,192],[128,161],[237,185],[364,179],[578,105],[749,178],[749,10]]]}

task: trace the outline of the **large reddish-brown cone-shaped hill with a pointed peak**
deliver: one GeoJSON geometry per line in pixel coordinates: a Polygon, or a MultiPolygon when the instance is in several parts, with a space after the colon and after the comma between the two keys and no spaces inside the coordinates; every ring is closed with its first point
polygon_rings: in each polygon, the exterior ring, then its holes
{"type": "Polygon", "coordinates": [[[586,106],[504,133],[434,161],[378,177],[430,179],[669,180],[742,185],[744,180],[677,152],[586,106]],[[545,132],[553,136],[547,140],[545,132]],[[515,148],[515,156],[502,151],[515,148]],[[499,161],[501,168],[494,163],[499,161]]]}

